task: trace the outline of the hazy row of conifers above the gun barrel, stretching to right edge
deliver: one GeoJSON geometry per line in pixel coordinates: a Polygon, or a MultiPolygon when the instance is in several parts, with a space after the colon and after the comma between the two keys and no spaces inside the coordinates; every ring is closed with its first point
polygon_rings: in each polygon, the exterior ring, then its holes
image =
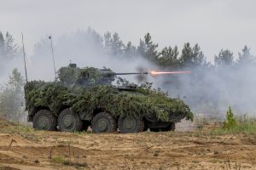
{"type": "Polygon", "coordinates": [[[192,45],[189,42],[185,42],[181,52],[179,52],[177,46],[168,46],[159,49],[159,44],[153,42],[149,33],[139,40],[137,47],[131,42],[125,44],[116,32],[113,34],[106,32],[102,37],[96,33],[96,31],[89,28],[87,33],[94,39],[94,43],[107,54],[120,58],[142,56],[144,59],[148,59],[155,65],[165,69],[172,70],[199,66],[212,68],[247,65],[256,62],[256,57],[250,54],[250,48],[248,48],[247,45],[238,53],[238,59],[236,60],[234,59],[233,52],[229,49],[221,49],[220,52],[214,56],[214,63],[212,64],[207,62],[207,57],[198,43],[192,45]]]}

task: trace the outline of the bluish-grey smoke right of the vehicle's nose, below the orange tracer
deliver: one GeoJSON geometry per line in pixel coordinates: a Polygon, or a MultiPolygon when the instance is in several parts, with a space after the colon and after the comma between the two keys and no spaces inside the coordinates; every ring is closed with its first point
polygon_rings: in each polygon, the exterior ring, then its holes
{"type": "Polygon", "coordinates": [[[184,99],[195,113],[223,116],[231,106],[238,115],[256,116],[255,65],[188,70],[189,75],[159,78],[162,88],[184,99]]]}

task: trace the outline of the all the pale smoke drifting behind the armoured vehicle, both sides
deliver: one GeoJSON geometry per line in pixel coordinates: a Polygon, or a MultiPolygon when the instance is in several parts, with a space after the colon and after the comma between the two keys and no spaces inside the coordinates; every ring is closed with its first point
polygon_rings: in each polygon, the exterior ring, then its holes
{"type": "MultiPolygon", "coordinates": [[[[98,38],[101,37],[98,37],[96,32],[89,34],[88,31],[76,31],[61,37],[52,37],[56,69],[73,62],[79,67],[106,66],[116,72],[134,72],[141,67],[148,71],[160,70],[141,56],[125,58],[109,54],[102,47],[104,42],[96,41],[99,40],[98,38]]],[[[24,70],[21,56],[12,64],[12,67],[18,67],[20,71],[24,70]]],[[[224,115],[227,108],[231,106],[236,114],[256,115],[255,63],[232,67],[211,67],[207,70],[201,67],[185,70],[192,72],[172,76],[148,75],[147,81],[154,82],[154,88],[162,88],[172,97],[180,97],[195,113],[224,115]]],[[[48,35],[35,44],[33,54],[28,58],[27,71],[29,81],[55,79],[48,35]]],[[[134,76],[125,78],[131,82],[137,82],[134,76]]]]}

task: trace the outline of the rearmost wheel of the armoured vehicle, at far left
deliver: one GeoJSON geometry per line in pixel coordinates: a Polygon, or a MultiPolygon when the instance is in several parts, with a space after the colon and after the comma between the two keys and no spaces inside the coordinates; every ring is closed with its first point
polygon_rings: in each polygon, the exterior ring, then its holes
{"type": "Polygon", "coordinates": [[[48,110],[40,110],[33,117],[33,127],[38,130],[54,131],[57,126],[56,117],[48,110]]]}

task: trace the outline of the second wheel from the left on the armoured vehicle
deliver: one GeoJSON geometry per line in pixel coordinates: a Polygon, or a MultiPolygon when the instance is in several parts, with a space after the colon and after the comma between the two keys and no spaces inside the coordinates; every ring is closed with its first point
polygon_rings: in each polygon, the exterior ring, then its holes
{"type": "Polygon", "coordinates": [[[78,114],[73,113],[69,108],[61,111],[58,117],[58,126],[62,132],[74,132],[82,129],[83,122],[78,114]]]}

